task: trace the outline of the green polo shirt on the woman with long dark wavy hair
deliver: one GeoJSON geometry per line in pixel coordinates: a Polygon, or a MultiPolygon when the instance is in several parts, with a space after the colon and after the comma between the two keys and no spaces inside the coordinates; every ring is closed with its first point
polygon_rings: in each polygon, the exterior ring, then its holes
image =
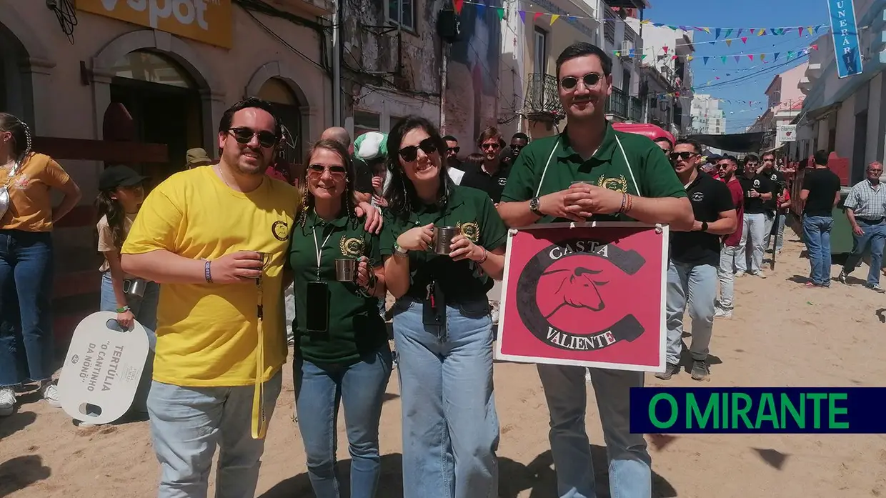
{"type": "MultiPolygon", "coordinates": [[[[414,227],[433,223],[438,227],[459,227],[465,236],[486,251],[494,251],[506,244],[508,229],[495,210],[492,199],[484,191],[470,187],[453,186],[445,206],[421,206],[415,212],[396,216],[385,210],[381,253],[393,254],[397,237],[414,227]]],[[[427,251],[409,252],[410,284],[407,294],[424,300],[427,285],[435,280],[443,290],[447,304],[486,300],[486,292],[493,287],[493,279],[480,266],[469,260],[453,261],[447,255],[427,251]]]]}

